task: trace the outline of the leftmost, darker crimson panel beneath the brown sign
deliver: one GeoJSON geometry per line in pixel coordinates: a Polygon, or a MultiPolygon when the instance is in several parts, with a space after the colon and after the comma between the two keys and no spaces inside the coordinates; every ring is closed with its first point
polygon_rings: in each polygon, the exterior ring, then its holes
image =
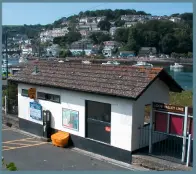
{"type": "Polygon", "coordinates": [[[167,132],[167,114],[155,112],[155,131],[167,132]]]}

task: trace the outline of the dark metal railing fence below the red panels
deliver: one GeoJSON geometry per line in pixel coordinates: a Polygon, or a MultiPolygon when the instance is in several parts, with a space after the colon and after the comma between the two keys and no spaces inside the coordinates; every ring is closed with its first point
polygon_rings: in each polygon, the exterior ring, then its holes
{"type": "MultiPolygon", "coordinates": [[[[142,153],[155,156],[160,159],[172,161],[176,163],[183,163],[187,161],[188,152],[188,136],[185,161],[182,162],[183,136],[175,136],[162,132],[150,130],[149,125],[140,127],[140,142],[139,148],[142,153]],[[152,151],[149,153],[149,134],[152,136],[152,151]]],[[[193,162],[193,140],[190,145],[189,164],[193,162]]]]}

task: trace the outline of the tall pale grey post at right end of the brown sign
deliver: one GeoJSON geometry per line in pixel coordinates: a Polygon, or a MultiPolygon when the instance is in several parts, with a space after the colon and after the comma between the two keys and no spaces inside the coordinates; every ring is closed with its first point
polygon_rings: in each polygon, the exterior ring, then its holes
{"type": "Polygon", "coordinates": [[[183,126],[183,145],[182,145],[182,162],[185,160],[186,154],[186,140],[187,140],[187,120],[188,120],[188,107],[185,107],[184,126],[183,126]]]}

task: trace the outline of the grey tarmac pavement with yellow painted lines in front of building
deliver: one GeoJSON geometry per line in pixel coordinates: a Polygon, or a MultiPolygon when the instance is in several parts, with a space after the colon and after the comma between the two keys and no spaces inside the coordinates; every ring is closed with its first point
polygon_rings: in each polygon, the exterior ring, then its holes
{"type": "Polygon", "coordinates": [[[99,156],[69,148],[58,148],[3,126],[2,154],[6,162],[14,162],[20,171],[33,170],[142,170],[142,168],[103,161],[99,156]]]}

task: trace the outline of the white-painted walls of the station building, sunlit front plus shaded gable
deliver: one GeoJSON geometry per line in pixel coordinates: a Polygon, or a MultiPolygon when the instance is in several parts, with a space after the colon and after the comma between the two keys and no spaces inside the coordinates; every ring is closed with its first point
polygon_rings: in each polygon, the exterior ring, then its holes
{"type": "Polygon", "coordinates": [[[18,85],[18,116],[40,125],[42,121],[30,117],[30,102],[33,100],[22,96],[22,89],[36,88],[37,92],[56,94],[61,96],[61,103],[38,100],[43,110],[52,113],[51,127],[69,132],[85,138],[85,100],[111,104],[111,146],[133,151],[139,148],[138,126],[144,123],[144,106],[152,101],[167,102],[169,89],[161,82],[155,81],[138,101],[94,95],[90,93],[68,91],[64,89],[48,88],[34,85],[18,85]],[[155,95],[153,95],[155,94],[155,95]],[[63,127],[62,109],[71,109],[79,112],[79,130],[74,131],[63,127]]]}

